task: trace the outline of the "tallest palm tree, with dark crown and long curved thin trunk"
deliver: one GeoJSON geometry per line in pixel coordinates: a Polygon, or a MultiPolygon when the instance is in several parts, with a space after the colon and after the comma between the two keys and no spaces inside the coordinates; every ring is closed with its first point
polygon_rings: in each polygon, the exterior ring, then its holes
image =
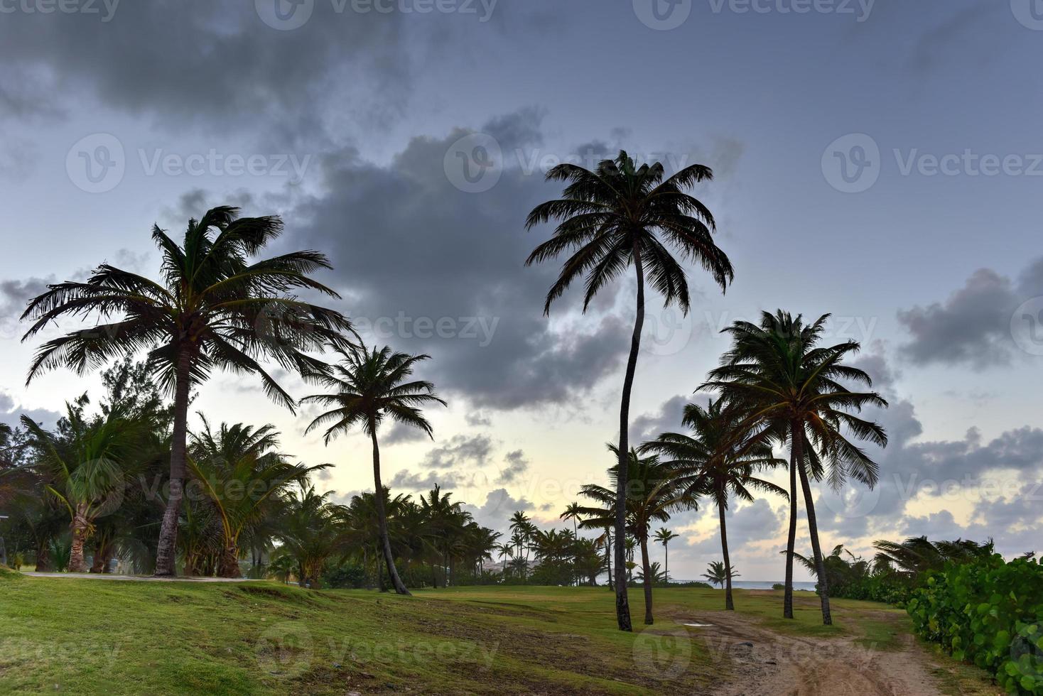
{"type": "MultiPolygon", "coordinates": [[[[624,151],[601,161],[595,171],[564,164],[547,173],[549,181],[567,181],[562,197],[537,205],[526,221],[532,227],[555,220],[554,237],[537,246],[526,265],[571,255],[551,287],[543,305],[551,303],[580,276],[584,277],[586,312],[595,295],[633,264],[637,279],[637,316],[634,321],[630,356],[623,379],[620,404],[618,491],[615,511],[615,537],[624,538],[626,526],[627,452],[630,450],[630,392],[637,369],[641,329],[645,324],[646,274],[663,303],[677,302],[688,312],[688,282],[684,268],[671,255],[668,246],[680,252],[683,260],[700,264],[709,271],[722,291],[732,279],[728,256],[713,244],[713,216],[702,202],[684,193],[693,184],[713,178],[702,165],[686,167],[664,178],[661,164],[638,167],[624,151]],[[665,244],[664,244],[665,243],[665,244]]],[[[615,614],[621,630],[631,630],[630,604],[624,570],[623,546],[615,546],[615,614]]]]}

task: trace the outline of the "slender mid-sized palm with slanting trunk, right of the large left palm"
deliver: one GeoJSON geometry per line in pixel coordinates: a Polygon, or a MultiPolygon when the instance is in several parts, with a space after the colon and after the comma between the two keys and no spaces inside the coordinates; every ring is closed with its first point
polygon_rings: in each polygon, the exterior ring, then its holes
{"type": "Polygon", "coordinates": [[[306,432],[328,426],[325,443],[331,439],[361,426],[373,444],[373,490],[377,492],[377,512],[380,517],[381,546],[388,576],[399,595],[409,590],[398,577],[388,538],[384,486],[381,483],[381,450],[377,430],[385,418],[396,423],[418,428],[434,439],[431,423],[421,415],[420,406],[445,402],[435,396],[435,387],[429,381],[406,381],[413,374],[413,367],[430,355],[408,355],[392,352],[391,348],[339,349],[343,362],[335,366],[334,373],[317,377],[318,381],[334,390],[332,394],[314,394],[301,403],[316,401],[331,409],[319,415],[309,424],[306,432]]]}

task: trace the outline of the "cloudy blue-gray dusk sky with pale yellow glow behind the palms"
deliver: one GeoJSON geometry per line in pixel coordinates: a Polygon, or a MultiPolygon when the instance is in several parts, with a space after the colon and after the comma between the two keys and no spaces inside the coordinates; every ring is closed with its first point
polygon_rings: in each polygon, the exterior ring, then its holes
{"type": "MultiPolygon", "coordinates": [[[[817,489],[823,545],[1043,551],[1040,4],[0,0],[0,419],[53,422],[99,383],[25,386],[29,297],[103,262],[154,275],[153,224],[234,204],[284,218],[272,253],[329,254],[320,279],[367,340],[432,355],[419,376],[448,406],[433,441],[382,433],[387,483],[440,483],[494,528],[515,509],[566,526],[612,464],[635,282],[544,317],[557,267],[524,260],[550,229],[524,222],[560,193],[548,168],[626,149],[713,169],[692,193],[735,267],[724,295],[689,269],[687,316],[648,298],[633,438],[680,428],[731,322],[830,313],[826,338],[859,341],[890,401],[870,417],[891,443],[874,490],[817,489]]],[[[217,375],[195,405],[274,424],[336,465],[319,484],[341,496],[371,487],[363,436],[305,436],[315,413],[257,380],[217,375]]],[[[778,498],[729,512],[743,579],[781,577],[785,521],[778,498]]],[[[672,576],[720,558],[714,511],[668,526],[672,576]]]]}

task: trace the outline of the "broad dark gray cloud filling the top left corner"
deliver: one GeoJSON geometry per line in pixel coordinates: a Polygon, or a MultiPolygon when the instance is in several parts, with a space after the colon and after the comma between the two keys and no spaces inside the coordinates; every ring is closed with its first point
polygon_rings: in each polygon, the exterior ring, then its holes
{"type": "Polygon", "coordinates": [[[176,128],[282,125],[295,136],[321,131],[316,115],[335,98],[355,98],[350,115],[377,122],[402,108],[408,90],[398,13],[351,13],[348,3],[337,14],[316,2],[307,24],[280,31],[253,2],[118,2],[112,13],[95,4],[98,15],[4,16],[0,43],[16,77],[0,82],[0,101],[53,115],[86,93],[176,128]]]}

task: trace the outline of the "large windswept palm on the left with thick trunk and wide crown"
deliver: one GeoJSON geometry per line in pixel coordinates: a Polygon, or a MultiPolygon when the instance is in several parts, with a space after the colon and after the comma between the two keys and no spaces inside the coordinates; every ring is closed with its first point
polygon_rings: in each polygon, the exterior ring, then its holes
{"type": "Polygon", "coordinates": [[[253,260],[283,231],[277,217],[239,218],[220,206],[189,220],[178,246],[159,226],[152,240],[163,256],[161,282],[102,264],[84,282],[48,287],[22,315],[32,326],[23,341],[58,318],[114,316],[118,321],[67,333],[37,351],[26,383],[57,367],[77,373],[108,359],[148,350],[148,366],[174,395],[170,449],[170,496],[160,530],[155,574],[175,574],[177,518],[184,497],[189,395],[216,369],[261,376],[265,393],[293,411],[294,401],[258,361],[271,358],[285,370],[309,377],[326,370],[308,355],[351,325],[340,313],[297,299],[313,291],[339,297],[309,275],[331,268],[317,251],[294,251],[253,260]],[[212,230],[217,230],[216,234],[212,230]]]}

